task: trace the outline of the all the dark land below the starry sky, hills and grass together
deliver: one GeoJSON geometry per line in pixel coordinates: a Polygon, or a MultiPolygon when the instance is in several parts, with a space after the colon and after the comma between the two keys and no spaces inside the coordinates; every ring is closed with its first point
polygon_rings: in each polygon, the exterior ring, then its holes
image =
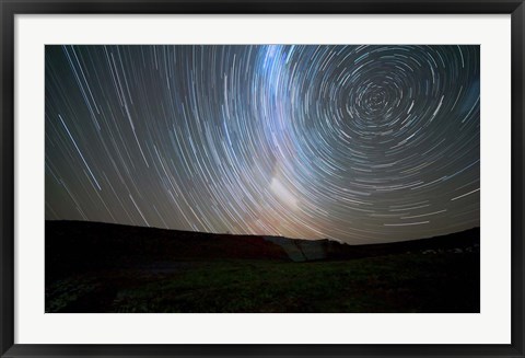
{"type": "Polygon", "coordinates": [[[46,312],[479,312],[479,229],[351,246],[47,221],[45,275],[46,312]]]}

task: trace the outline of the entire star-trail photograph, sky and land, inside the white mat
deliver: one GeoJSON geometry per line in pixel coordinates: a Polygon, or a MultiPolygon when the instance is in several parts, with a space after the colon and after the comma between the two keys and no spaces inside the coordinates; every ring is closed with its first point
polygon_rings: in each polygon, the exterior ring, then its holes
{"type": "Polygon", "coordinates": [[[47,45],[46,312],[479,312],[477,45],[47,45]]]}

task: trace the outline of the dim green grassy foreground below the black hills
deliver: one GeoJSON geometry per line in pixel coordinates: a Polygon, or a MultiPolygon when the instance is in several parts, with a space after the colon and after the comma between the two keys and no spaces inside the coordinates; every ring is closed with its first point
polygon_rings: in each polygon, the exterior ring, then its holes
{"type": "Polygon", "coordinates": [[[46,279],[46,312],[479,312],[478,253],[217,259],[46,279]]]}

